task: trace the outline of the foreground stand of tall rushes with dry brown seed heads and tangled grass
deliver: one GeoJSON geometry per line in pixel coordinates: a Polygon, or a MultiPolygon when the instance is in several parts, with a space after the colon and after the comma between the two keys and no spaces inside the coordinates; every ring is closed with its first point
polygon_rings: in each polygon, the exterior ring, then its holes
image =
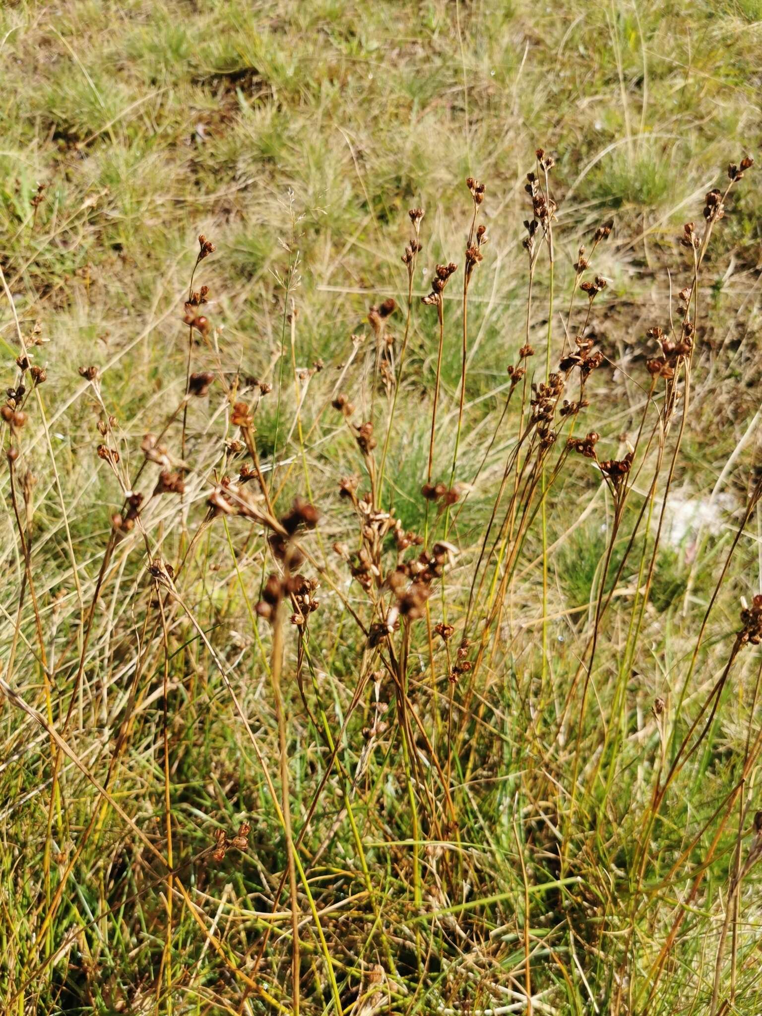
{"type": "Polygon", "coordinates": [[[130,423],[108,365],[44,366],[4,265],[4,1012],[760,1011],[757,434],[721,531],[672,536],[752,165],[612,338],[627,238],[570,238],[537,149],[487,395],[489,181],[458,264],[410,209],[395,295],[332,362],[294,216],[257,376],[200,235],[182,366],[130,423]],[[84,519],[53,420],[90,431],[84,519]]]}

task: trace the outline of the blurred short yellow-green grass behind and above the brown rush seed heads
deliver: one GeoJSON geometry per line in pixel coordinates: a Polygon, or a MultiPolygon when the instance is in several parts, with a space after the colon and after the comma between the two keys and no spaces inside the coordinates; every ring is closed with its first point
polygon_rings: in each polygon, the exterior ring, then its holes
{"type": "MultiPolygon", "coordinates": [[[[558,160],[562,282],[584,231],[615,211],[598,331],[626,365],[663,306],[676,226],[728,160],[758,148],[755,18],[749,0],[4,5],[0,256],[24,326],[45,317],[55,397],[75,389],[74,361],[118,358],[110,404],[128,433],[155,425],[165,400],[151,393],[182,384],[173,305],[199,232],[219,251],[204,281],[231,367],[264,375],[278,355],[283,243],[300,256],[299,366],[340,356],[371,302],[403,296],[409,206],[428,209],[420,292],[436,260],[459,259],[472,173],[488,185],[495,268],[471,288],[478,424],[520,344],[523,177],[537,145],[558,160]]],[[[714,308],[732,309],[711,337],[738,354],[713,378],[712,422],[727,427],[710,429],[719,444],[695,449],[697,467],[724,460],[754,402],[736,381],[758,372],[761,204],[757,188],[740,191],[711,253],[714,308]]],[[[422,397],[433,333],[420,316],[422,397]]],[[[459,366],[448,343],[446,388],[459,366]]],[[[423,421],[412,439],[423,448],[423,421]]],[[[65,440],[76,468],[76,434],[65,440]]]]}

